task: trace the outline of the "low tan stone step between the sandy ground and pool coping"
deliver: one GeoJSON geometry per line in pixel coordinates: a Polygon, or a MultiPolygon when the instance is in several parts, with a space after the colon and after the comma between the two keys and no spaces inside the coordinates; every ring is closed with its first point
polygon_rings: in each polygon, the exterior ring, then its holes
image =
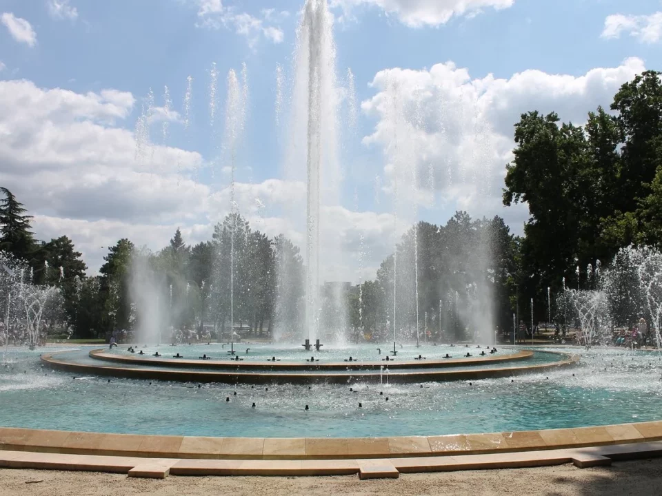
{"type": "Polygon", "coordinates": [[[610,465],[612,460],[659,457],[662,442],[616,444],[525,453],[390,459],[241,460],[137,458],[0,451],[0,467],[126,473],[163,479],[168,475],[352,475],[360,479],[398,478],[401,472],[442,472],[524,468],[572,463],[579,468],[610,465]]]}

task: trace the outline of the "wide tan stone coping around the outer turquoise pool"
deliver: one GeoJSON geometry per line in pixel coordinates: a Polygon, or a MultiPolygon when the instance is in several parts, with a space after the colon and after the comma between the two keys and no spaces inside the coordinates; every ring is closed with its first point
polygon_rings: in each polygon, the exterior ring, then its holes
{"type": "Polygon", "coordinates": [[[661,422],[405,437],[189,437],[0,428],[3,451],[159,459],[323,460],[457,457],[662,441],[661,422]]]}

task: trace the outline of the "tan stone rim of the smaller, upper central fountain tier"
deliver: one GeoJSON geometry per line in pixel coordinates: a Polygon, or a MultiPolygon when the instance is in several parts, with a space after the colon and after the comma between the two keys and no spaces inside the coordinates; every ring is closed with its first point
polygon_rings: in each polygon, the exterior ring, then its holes
{"type": "MultiPolygon", "coordinates": [[[[458,349],[472,349],[458,347],[458,349]]],[[[486,348],[485,348],[486,349],[486,348]]],[[[485,349],[481,349],[484,351],[485,349]]],[[[381,360],[362,360],[357,362],[315,362],[314,364],[305,363],[305,357],[302,355],[301,363],[297,362],[241,362],[232,361],[230,358],[225,360],[188,360],[185,358],[154,358],[150,355],[117,355],[115,353],[108,353],[104,349],[94,349],[90,351],[90,358],[103,360],[104,362],[119,362],[124,364],[139,364],[139,365],[152,365],[162,367],[175,367],[175,368],[190,368],[190,369],[215,369],[215,370],[230,370],[230,371],[324,371],[324,370],[366,370],[377,369],[388,366],[389,370],[395,369],[443,369],[448,367],[458,366],[475,366],[475,365],[489,365],[501,362],[514,362],[517,360],[528,360],[532,358],[533,351],[519,350],[509,355],[490,356],[485,355],[473,356],[472,358],[442,358],[439,360],[389,360],[383,362],[381,360]]],[[[241,356],[241,355],[238,355],[241,356]]]]}

